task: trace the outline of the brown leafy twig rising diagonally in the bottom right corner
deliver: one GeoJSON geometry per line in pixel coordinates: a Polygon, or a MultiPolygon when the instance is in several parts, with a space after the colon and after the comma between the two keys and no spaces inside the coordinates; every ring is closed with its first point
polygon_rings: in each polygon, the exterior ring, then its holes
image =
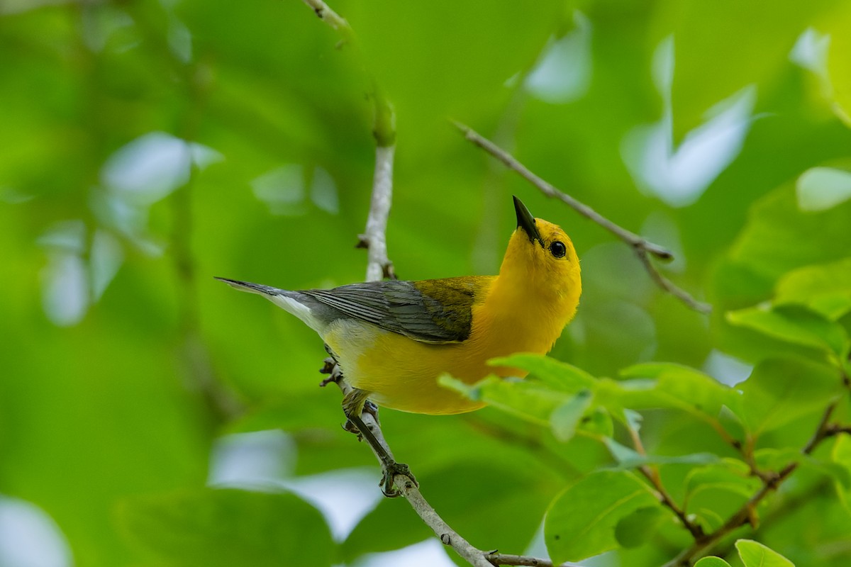
{"type": "MultiPolygon", "coordinates": [[[[828,405],[825,408],[825,412],[819,420],[819,425],[816,427],[815,433],[801,449],[802,455],[809,455],[823,440],[844,432],[844,427],[832,426],[827,423],[830,420],[831,414],[836,406],[837,402],[834,401],[831,405],[828,405]]],[[[730,516],[730,518],[724,522],[720,528],[713,531],[711,534],[706,535],[702,539],[695,541],[692,547],[688,547],[688,549],[683,550],[683,552],[677,555],[677,557],[666,563],[664,567],[683,567],[685,565],[690,565],[696,556],[717,544],[718,541],[722,540],[722,538],[727,536],[730,532],[745,524],[751,524],[756,527],[756,510],[759,503],[762,502],[768,494],[777,490],[783,481],[788,479],[797,467],[798,462],[792,461],[784,468],[780,469],[780,472],[778,473],[765,474],[764,476],[761,475],[760,478],[762,479],[762,486],[756,493],[754,493],[753,496],[751,496],[751,498],[748,499],[747,502],[745,502],[745,504],[742,505],[742,507],[739,508],[739,510],[730,516]]]]}

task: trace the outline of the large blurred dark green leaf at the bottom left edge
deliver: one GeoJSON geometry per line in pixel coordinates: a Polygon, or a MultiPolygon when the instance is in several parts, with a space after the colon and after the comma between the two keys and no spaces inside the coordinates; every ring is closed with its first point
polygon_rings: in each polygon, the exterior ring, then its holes
{"type": "Polygon", "coordinates": [[[194,490],[123,502],[129,537],[168,565],[330,565],[328,525],[316,508],[288,493],[194,490]]]}

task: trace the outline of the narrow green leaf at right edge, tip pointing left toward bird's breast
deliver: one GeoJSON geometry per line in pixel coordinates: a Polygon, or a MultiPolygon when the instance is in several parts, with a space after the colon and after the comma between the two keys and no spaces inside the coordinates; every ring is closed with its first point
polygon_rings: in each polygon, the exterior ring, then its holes
{"type": "Polygon", "coordinates": [[[808,309],[771,309],[763,303],[757,307],[728,311],[727,320],[768,337],[828,354],[838,356],[847,348],[848,334],[842,326],[808,309]]]}

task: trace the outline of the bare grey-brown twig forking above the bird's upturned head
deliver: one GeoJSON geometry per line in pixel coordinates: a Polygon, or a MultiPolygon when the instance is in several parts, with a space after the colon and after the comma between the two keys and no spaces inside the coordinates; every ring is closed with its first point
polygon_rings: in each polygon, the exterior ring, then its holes
{"type": "Polygon", "coordinates": [[[709,303],[700,302],[691,297],[688,292],[675,286],[670,280],[665,278],[664,275],[661,275],[659,270],[657,270],[650,262],[649,256],[651,255],[655,258],[659,258],[660,260],[671,260],[673,255],[670,251],[642,238],[634,232],[624,229],[618,224],[614,224],[612,221],[608,220],[608,218],[603,217],[603,215],[585,205],[585,203],[577,201],[574,197],[569,196],[563,191],[557,190],[552,184],[529,171],[528,167],[517,161],[517,158],[511,156],[511,154],[507,151],[500,148],[500,146],[495,145],[489,139],[484,138],[482,134],[477,133],[469,126],[455,121],[453,121],[453,124],[455,128],[458,128],[460,132],[464,134],[466,139],[487,151],[488,154],[494,156],[496,159],[500,160],[500,162],[505,163],[506,167],[517,172],[521,177],[523,177],[523,179],[526,179],[529,183],[537,187],[545,196],[563,201],[569,207],[573,207],[574,210],[577,213],[580,213],[583,217],[591,219],[591,221],[599,224],[604,229],[620,238],[620,240],[625,241],[636,251],[638,258],[642,261],[644,268],[647,269],[648,274],[653,281],[665,290],[665,292],[671,293],[671,295],[680,299],[683,303],[686,303],[688,307],[696,311],[700,311],[701,313],[709,313],[712,310],[709,303]]]}

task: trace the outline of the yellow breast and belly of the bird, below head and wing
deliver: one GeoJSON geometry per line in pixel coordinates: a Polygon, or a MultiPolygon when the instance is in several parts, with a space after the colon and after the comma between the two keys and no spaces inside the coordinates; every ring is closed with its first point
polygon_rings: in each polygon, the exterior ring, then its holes
{"type": "Polygon", "coordinates": [[[351,386],[371,392],[379,405],[401,411],[452,414],[473,411],[483,403],[467,400],[437,385],[447,372],[466,383],[495,373],[523,377],[515,368],[488,366],[488,360],[517,352],[548,352],[573,315],[530,301],[515,286],[477,290],[471,306],[471,334],[461,343],[430,344],[357,320],[335,322],[325,342],[334,350],[351,386]]]}

